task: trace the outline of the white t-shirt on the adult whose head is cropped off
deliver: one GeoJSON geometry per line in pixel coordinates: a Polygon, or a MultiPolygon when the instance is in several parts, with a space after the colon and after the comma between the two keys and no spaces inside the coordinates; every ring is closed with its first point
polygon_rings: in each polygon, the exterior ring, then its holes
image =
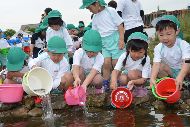
{"type": "Polygon", "coordinates": [[[140,10],[143,10],[141,3],[137,0],[119,0],[117,2],[117,11],[122,12],[125,30],[144,25],[140,16],[140,10]]]}

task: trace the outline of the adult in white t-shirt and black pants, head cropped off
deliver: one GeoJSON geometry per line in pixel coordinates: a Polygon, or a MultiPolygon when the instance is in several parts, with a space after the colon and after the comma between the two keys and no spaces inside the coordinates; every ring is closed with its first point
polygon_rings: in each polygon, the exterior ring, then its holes
{"type": "Polygon", "coordinates": [[[143,32],[144,23],[141,17],[144,11],[139,0],[119,0],[116,11],[124,20],[125,43],[132,33],[143,32]]]}

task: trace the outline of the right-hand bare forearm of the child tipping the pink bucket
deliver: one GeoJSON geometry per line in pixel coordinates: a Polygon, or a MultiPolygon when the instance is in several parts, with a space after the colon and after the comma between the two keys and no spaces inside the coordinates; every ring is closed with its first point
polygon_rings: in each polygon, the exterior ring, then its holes
{"type": "Polygon", "coordinates": [[[94,77],[98,74],[98,70],[92,68],[92,70],[90,71],[89,75],[86,77],[86,79],[84,80],[82,87],[86,92],[86,87],[92,82],[92,80],[94,79],[94,77]]]}

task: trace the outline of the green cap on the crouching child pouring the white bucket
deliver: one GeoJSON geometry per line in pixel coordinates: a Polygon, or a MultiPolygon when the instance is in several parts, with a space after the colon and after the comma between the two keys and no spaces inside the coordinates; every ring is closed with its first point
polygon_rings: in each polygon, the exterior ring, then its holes
{"type": "Polygon", "coordinates": [[[66,43],[62,37],[53,36],[48,41],[48,51],[52,53],[66,53],[66,43]]]}

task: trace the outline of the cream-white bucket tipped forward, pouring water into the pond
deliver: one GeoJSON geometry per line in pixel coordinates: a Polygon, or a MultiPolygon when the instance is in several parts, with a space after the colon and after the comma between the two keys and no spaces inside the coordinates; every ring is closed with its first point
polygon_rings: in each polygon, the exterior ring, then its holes
{"type": "Polygon", "coordinates": [[[24,74],[22,86],[31,96],[45,95],[53,88],[53,78],[46,69],[35,67],[24,74]]]}

